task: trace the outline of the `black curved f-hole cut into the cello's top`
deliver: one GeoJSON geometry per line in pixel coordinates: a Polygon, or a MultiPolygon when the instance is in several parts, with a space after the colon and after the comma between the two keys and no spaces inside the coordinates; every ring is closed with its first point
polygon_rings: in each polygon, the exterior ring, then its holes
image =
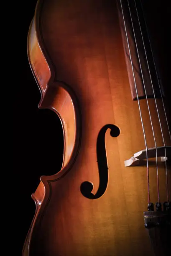
{"type": "Polygon", "coordinates": [[[105,148],[105,134],[107,129],[110,129],[110,135],[112,137],[117,137],[120,134],[120,129],[116,125],[107,124],[102,127],[97,137],[97,164],[99,169],[99,188],[97,193],[94,195],[92,193],[93,183],[85,181],[81,184],[80,190],[84,197],[89,199],[97,199],[101,197],[106,189],[108,183],[108,166],[107,166],[107,157],[106,157],[106,148],[105,148]]]}

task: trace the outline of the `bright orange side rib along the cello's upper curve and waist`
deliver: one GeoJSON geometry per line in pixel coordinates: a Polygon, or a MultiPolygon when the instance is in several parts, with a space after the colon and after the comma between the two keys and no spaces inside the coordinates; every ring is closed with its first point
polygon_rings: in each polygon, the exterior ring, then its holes
{"type": "MultiPolygon", "coordinates": [[[[35,15],[38,14],[36,12],[35,15]]],[[[38,20],[36,18],[33,18],[28,33],[28,59],[41,92],[41,101],[38,107],[53,110],[61,120],[64,132],[64,156],[62,164],[62,168],[64,168],[69,163],[74,147],[76,146],[78,113],[76,118],[77,110],[75,105],[77,105],[77,100],[72,92],[69,93],[69,87],[66,84],[54,81],[53,66],[48,64],[46,60],[48,57],[43,54],[40,46],[43,45],[43,42],[40,41],[36,33],[35,20],[38,20]]]]}

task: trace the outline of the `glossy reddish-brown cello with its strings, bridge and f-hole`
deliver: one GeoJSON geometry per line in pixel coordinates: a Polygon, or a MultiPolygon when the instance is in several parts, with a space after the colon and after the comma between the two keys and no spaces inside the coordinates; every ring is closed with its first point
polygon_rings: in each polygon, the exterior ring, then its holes
{"type": "Polygon", "coordinates": [[[64,132],[23,256],[169,255],[170,108],[143,1],[38,0],[28,59],[64,132]]]}

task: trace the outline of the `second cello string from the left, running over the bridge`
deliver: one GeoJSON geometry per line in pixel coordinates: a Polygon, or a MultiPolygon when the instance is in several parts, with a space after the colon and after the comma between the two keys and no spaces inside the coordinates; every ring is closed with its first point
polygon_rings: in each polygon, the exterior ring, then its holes
{"type": "Polygon", "coordinates": [[[133,35],[134,35],[134,39],[135,39],[135,46],[136,46],[136,50],[137,50],[137,54],[138,54],[138,61],[139,61],[139,64],[140,64],[140,71],[141,71],[141,76],[142,76],[142,81],[143,81],[143,87],[144,87],[144,91],[145,91],[145,98],[146,98],[146,102],[147,102],[148,113],[149,113],[149,117],[150,117],[150,123],[151,123],[152,132],[153,132],[154,144],[155,144],[155,148],[156,148],[157,191],[158,191],[158,202],[160,202],[159,182],[158,182],[158,161],[157,161],[157,145],[156,145],[156,138],[155,138],[155,133],[154,133],[154,129],[153,129],[153,122],[152,122],[152,118],[151,118],[151,112],[150,112],[150,108],[149,108],[149,104],[148,104],[147,92],[146,92],[146,89],[145,89],[145,82],[144,82],[143,70],[142,70],[142,67],[141,67],[141,61],[140,61],[140,55],[139,55],[139,51],[138,51],[137,40],[136,40],[136,36],[135,36],[135,30],[134,30],[134,25],[133,25],[133,19],[132,19],[132,15],[131,15],[131,11],[130,11],[130,4],[129,4],[129,1],[128,1],[128,0],[127,0],[127,2],[128,2],[128,8],[129,8],[129,13],[130,13],[131,24],[132,24],[132,28],[133,28],[133,35]]]}

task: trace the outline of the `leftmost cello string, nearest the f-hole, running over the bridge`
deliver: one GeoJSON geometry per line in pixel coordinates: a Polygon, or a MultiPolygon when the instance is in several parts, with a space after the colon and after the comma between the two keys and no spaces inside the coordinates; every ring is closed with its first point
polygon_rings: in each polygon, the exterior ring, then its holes
{"type": "MultiPolygon", "coordinates": [[[[120,5],[121,5],[121,9],[122,9],[122,14],[123,14],[123,5],[122,5],[122,1],[121,0],[120,0],[120,5]]],[[[144,125],[143,125],[142,113],[141,113],[141,109],[140,109],[140,101],[139,101],[139,98],[138,98],[138,90],[137,90],[137,84],[136,84],[136,81],[135,81],[135,74],[134,74],[134,69],[133,69],[133,61],[132,61],[131,53],[130,53],[130,44],[129,44],[129,40],[128,40],[128,34],[127,34],[124,14],[123,14],[123,21],[124,21],[126,39],[127,39],[127,44],[128,44],[128,51],[129,51],[129,55],[130,55],[130,63],[131,63],[131,67],[132,67],[132,70],[133,70],[133,79],[134,79],[134,83],[135,83],[135,91],[136,91],[136,95],[137,95],[138,108],[139,108],[139,112],[140,112],[140,120],[141,120],[142,129],[143,129],[143,136],[144,136],[145,149],[146,149],[147,183],[148,183],[148,205],[149,205],[150,204],[150,186],[149,186],[149,168],[148,168],[148,147],[147,147],[145,130],[144,130],[144,125]]]]}

